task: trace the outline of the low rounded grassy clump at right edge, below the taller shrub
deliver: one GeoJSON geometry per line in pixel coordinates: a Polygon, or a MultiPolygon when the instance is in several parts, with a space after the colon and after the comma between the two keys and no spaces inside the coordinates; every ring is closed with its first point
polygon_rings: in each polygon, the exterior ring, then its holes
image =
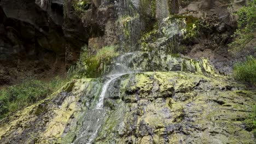
{"type": "Polygon", "coordinates": [[[233,69],[233,76],[236,80],[256,84],[256,58],[249,56],[246,62],[237,63],[233,69]]]}

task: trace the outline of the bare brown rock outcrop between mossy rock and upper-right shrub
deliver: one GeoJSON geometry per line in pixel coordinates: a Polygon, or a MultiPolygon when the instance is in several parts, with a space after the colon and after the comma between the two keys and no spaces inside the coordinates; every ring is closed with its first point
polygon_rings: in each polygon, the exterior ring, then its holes
{"type": "MultiPolygon", "coordinates": [[[[246,5],[246,0],[235,1],[179,1],[178,15],[192,15],[208,23],[208,29],[200,32],[193,44],[188,46],[185,55],[190,58],[208,57],[214,67],[225,74],[232,73],[232,67],[237,61],[244,61],[247,55],[255,55],[255,50],[250,53],[230,55],[228,44],[231,35],[236,29],[236,12],[246,5]]],[[[207,27],[207,26],[206,26],[207,27]]],[[[252,46],[251,46],[252,47],[252,46]]]]}

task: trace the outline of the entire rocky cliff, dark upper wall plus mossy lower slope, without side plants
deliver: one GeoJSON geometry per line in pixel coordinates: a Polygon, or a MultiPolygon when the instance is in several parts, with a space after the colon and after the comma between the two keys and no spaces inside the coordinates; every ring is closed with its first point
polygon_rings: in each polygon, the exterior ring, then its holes
{"type": "Polygon", "coordinates": [[[2,0],[0,85],[65,71],[83,45],[97,75],[2,119],[0,143],[254,143],[256,92],[220,74],[244,4],[2,0]]]}

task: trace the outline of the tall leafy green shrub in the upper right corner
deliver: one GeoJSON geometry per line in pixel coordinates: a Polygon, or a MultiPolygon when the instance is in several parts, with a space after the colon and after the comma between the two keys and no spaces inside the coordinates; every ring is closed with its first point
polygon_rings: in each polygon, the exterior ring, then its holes
{"type": "Polygon", "coordinates": [[[255,38],[256,35],[256,0],[248,4],[248,7],[241,8],[238,13],[236,30],[233,41],[229,46],[232,53],[244,50],[246,45],[255,38]]]}

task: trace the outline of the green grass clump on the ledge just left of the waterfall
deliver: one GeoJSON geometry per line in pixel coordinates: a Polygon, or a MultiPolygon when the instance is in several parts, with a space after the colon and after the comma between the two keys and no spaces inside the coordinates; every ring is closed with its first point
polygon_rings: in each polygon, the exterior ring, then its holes
{"type": "Polygon", "coordinates": [[[104,71],[104,66],[110,64],[111,59],[117,57],[119,52],[116,46],[105,46],[98,50],[96,55],[91,55],[87,46],[82,48],[77,65],[68,70],[67,77],[98,77],[104,71]]]}

